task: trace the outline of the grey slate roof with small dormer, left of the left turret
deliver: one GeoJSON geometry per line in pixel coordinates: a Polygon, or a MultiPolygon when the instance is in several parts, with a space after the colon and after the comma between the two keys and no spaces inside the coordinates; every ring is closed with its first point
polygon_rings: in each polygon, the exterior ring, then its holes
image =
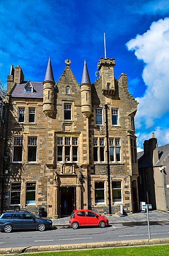
{"type": "Polygon", "coordinates": [[[21,84],[16,84],[12,91],[12,97],[16,98],[39,98],[43,99],[43,83],[42,82],[32,82],[33,93],[25,92],[25,85],[27,81],[23,81],[21,84]]]}

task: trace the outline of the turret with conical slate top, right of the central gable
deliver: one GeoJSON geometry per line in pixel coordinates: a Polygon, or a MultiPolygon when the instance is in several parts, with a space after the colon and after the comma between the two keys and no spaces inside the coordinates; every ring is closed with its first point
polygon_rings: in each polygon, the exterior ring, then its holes
{"type": "Polygon", "coordinates": [[[81,99],[82,99],[82,113],[86,118],[91,115],[91,83],[88,75],[86,60],[84,60],[84,67],[81,80],[81,99]]]}

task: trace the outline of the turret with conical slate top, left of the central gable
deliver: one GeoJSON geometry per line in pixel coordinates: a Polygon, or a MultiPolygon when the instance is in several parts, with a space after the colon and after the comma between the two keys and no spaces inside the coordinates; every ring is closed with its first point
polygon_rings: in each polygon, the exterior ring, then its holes
{"type": "Polygon", "coordinates": [[[54,114],[55,81],[51,66],[51,59],[48,59],[45,79],[43,81],[43,112],[47,116],[54,114]]]}

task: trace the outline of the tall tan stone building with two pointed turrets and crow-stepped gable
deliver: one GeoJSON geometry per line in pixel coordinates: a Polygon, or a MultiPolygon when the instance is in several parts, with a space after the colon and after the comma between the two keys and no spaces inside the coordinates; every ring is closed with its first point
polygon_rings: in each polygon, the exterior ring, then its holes
{"type": "Polygon", "coordinates": [[[115,80],[115,60],[101,58],[91,84],[84,61],[78,84],[65,64],[57,83],[50,59],[43,83],[24,81],[21,67],[11,66],[3,209],[43,207],[52,218],[83,208],[137,211],[137,102],[127,75],[115,80]]]}

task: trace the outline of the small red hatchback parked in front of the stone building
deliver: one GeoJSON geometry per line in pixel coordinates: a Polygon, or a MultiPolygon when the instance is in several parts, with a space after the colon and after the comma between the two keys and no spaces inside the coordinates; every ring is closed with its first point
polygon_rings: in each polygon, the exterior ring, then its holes
{"type": "Polygon", "coordinates": [[[100,228],[106,227],[109,224],[108,218],[104,215],[96,214],[91,210],[74,210],[70,215],[69,224],[73,229],[81,226],[95,226],[99,225],[100,228]]]}

